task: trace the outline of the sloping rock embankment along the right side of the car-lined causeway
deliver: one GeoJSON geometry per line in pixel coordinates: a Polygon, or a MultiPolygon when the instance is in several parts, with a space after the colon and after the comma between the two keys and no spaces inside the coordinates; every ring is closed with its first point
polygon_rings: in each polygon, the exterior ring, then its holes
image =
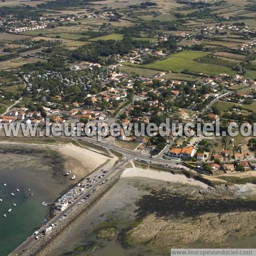
{"type": "Polygon", "coordinates": [[[96,204],[98,200],[102,198],[102,196],[113,187],[117,181],[119,180],[123,170],[120,170],[118,174],[113,176],[108,182],[103,184],[93,196],[91,196],[88,200],[86,200],[83,204],[79,205],[71,215],[69,215],[65,221],[58,223],[57,227],[54,228],[51,233],[47,234],[47,236],[42,237],[40,240],[35,241],[29,249],[21,253],[24,256],[32,256],[32,255],[44,255],[45,252],[51,249],[51,246],[54,245],[55,240],[58,236],[61,236],[61,232],[67,228],[68,226],[74,224],[76,219],[81,214],[87,214],[87,212],[96,204]]]}

